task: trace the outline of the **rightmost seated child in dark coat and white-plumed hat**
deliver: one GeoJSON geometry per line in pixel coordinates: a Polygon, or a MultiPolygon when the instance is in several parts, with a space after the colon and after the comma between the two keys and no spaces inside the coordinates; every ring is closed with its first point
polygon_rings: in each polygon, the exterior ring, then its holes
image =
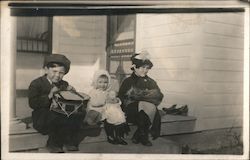
{"type": "Polygon", "coordinates": [[[149,54],[134,54],[131,61],[133,73],[122,82],[118,96],[122,101],[127,122],[137,126],[132,142],[152,146],[148,135],[150,132],[153,139],[160,135],[161,118],[157,106],[161,103],[163,94],[157,83],[147,76],[153,67],[149,54]]]}

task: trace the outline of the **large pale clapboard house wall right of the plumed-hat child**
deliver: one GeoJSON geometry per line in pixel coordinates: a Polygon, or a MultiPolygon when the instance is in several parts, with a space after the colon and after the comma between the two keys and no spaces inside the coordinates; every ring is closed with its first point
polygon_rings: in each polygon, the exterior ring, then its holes
{"type": "Polygon", "coordinates": [[[242,126],[243,22],[241,13],[137,16],[136,50],[151,54],[159,108],[188,104],[196,130],[242,126]]]}

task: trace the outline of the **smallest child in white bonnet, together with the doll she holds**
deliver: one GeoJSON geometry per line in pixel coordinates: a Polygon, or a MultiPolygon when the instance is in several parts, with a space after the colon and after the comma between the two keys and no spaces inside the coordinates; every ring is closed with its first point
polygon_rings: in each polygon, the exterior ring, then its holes
{"type": "Polygon", "coordinates": [[[128,131],[126,120],[120,108],[120,100],[116,98],[115,92],[109,92],[110,79],[109,73],[105,70],[99,70],[94,74],[93,89],[89,92],[90,100],[84,121],[88,125],[104,121],[108,142],[126,145],[127,142],[122,139],[125,130],[128,131]]]}

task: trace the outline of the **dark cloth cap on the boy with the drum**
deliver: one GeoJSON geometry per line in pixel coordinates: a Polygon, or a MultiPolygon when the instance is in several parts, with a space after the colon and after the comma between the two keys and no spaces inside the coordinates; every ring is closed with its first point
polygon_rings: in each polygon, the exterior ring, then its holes
{"type": "Polygon", "coordinates": [[[59,63],[65,67],[65,74],[69,72],[70,60],[62,54],[50,54],[45,57],[43,67],[47,66],[49,63],[59,63]]]}

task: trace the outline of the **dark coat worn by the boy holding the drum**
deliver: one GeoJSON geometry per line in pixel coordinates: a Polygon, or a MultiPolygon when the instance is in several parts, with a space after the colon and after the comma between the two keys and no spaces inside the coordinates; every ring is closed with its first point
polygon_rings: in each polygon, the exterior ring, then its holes
{"type": "MultiPolygon", "coordinates": [[[[56,86],[66,90],[68,82],[60,81],[56,86]]],[[[29,106],[33,109],[33,127],[42,134],[48,133],[48,125],[58,116],[50,111],[51,99],[48,98],[52,85],[46,75],[33,80],[29,86],[29,106]]]]}

